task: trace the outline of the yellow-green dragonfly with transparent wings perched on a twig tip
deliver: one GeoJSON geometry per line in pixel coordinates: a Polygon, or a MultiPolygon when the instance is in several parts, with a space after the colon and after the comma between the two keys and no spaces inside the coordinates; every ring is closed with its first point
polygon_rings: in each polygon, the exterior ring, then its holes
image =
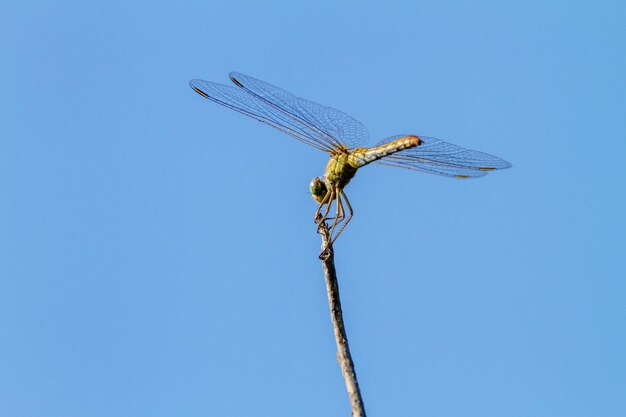
{"type": "Polygon", "coordinates": [[[318,203],[314,217],[318,226],[332,220],[330,239],[322,255],[352,220],[354,211],[344,188],[365,165],[375,163],[462,179],[511,167],[496,156],[422,135],[395,135],[366,147],[367,128],[346,113],[238,72],[231,72],[229,78],[234,85],[199,79],[191,80],[189,85],[206,99],[330,154],[324,177],[314,178],[309,186],[318,203]]]}

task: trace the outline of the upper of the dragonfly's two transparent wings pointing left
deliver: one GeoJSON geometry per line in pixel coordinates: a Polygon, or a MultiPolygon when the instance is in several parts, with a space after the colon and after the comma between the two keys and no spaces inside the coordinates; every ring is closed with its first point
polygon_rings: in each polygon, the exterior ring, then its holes
{"type": "Polygon", "coordinates": [[[342,111],[296,97],[279,87],[241,73],[231,72],[229,76],[237,86],[276,113],[303,126],[310,135],[335,149],[364,146],[369,139],[367,128],[342,111]]]}

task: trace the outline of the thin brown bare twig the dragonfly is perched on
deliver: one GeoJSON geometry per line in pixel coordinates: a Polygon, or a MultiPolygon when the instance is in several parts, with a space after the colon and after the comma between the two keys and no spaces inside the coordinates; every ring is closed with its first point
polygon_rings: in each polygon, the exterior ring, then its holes
{"type": "Polygon", "coordinates": [[[324,279],[326,280],[326,293],[328,294],[328,306],[330,307],[330,317],[333,321],[333,331],[337,342],[337,361],[341,366],[341,373],[346,382],[346,389],[350,397],[350,406],[353,417],[365,417],[365,407],[359,382],[354,371],[354,362],[350,355],[348,337],[343,324],[343,313],[341,311],[341,300],[339,299],[339,283],[337,282],[337,272],[335,271],[335,253],[330,242],[330,232],[326,222],[322,222],[318,229],[322,236],[322,248],[328,248],[320,255],[322,267],[324,269],[324,279]]]}

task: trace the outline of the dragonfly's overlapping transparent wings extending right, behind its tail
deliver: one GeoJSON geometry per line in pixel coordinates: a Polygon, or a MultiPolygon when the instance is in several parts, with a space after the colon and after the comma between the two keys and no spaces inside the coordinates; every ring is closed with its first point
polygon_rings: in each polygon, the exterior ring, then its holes
{"type": "MultiPolygon", "coordinates": [[[[402,136],[406,135],[392,136],[378,145],[402,136]]],[[[488,153],[465,149],[427,136],[419,138],[422,140],[420,146],[387,155],[375,163],[454,178],[482,177],[489,171],[511,167],[510,163],[488,153]]]]}

